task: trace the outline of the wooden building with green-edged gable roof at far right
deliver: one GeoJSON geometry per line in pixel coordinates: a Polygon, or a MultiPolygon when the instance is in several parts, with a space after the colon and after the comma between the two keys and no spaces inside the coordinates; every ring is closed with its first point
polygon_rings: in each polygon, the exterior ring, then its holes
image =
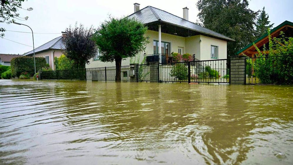
{"type": "MultiPolygon", "coordinates": [[[[271,30],[271,37],[279,37],[280,32],[283,31],[285,33],[285,37],[293,37],[293,22],[284,21],[282,24],[279,24],[277,27],[271,30]]],[[[236,54],[237,55],[247,55],[249,57],[256,57],[256,54],[259,54],[256,51],[256,48],[254,47],[253,43],[261,50],[262,53],[264,52],[264,45],[266,49],[269,48],[269,37],[268,34],[264,34],[263,36],[259,37],[254,42],[250,43],[243,49],[239,50],[236,54]]]]}

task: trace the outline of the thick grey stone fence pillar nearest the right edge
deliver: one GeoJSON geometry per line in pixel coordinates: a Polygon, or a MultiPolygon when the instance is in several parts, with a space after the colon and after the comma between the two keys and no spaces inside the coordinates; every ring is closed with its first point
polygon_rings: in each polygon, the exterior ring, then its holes
{"type": "Polygon", "coordinates": [[[246,83],[246,56],[231,56],[230,65],[231,84],[244,85],[246,83]]]}

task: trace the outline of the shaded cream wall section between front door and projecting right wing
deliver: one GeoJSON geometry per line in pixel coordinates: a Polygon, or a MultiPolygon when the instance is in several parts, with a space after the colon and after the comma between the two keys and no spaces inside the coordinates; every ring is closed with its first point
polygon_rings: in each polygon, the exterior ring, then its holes
{"type": "Polygon", "coordinates": [[[195,54],[195,58],[200,60],[200,35],[185,37],[185,53],[195,54]]]}

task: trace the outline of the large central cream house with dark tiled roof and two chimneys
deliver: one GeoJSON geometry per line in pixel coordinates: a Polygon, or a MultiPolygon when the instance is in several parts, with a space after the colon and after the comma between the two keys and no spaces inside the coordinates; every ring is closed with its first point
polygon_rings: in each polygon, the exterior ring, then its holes
{"type": "MultiPolygon", "coordinates": [[[[141,52],[140,61],[149,54],[160,53],[160,62],[162,59],[164,62],[164,57],[172,52],[194,54],[198,60],[226,59],[227,42],[235,41],[188,21],[187,7],[183,8],[183,18],[180,18],[152,6],[140,10],[139,4],[135,3],[134,13],[128,17],[136,18],[148,27],[145,36],[149,37],[150,43],[146,45],[145,51],[141,52]]],[[[122,61],[122,66],[129,65],[129,59],[122,61]]],[[[97,53],[86,68],[105,66],[115,66],[115,62],[101,62],[97,53]]]]}

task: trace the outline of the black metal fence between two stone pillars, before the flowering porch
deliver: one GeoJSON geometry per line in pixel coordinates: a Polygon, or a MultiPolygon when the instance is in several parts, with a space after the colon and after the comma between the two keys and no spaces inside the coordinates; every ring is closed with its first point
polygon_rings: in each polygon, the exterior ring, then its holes
{"type": "Polygon", "coordinates": [[[159,63],[159,81],[230,83],[228,60],[159,63]]]}

